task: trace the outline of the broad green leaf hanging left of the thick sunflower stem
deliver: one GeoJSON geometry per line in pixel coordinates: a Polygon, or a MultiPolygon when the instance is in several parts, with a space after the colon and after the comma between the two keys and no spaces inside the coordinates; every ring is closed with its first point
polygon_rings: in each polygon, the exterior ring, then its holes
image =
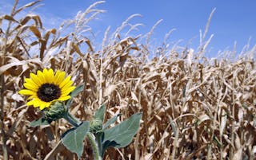
{"type": "Polygon", "coordinates": [[[76,128],[71,128],[67,131],[66,135],[62,138],[62,143],[68,150],[78,155],[78,158],[82,156],[83,152],[83,139],[90,129],[90,123],[88,121],[83,122],[76,128]]]}

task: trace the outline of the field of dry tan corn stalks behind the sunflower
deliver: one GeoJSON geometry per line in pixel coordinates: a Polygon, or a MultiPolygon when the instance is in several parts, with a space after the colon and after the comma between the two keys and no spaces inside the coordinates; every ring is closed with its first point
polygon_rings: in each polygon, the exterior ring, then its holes
{"type": "MultiPolygon", "coordinates": [[[[62,145],[61,135],[71,127],[64,119],[30,127],[42,112],[26,106],[18,91],[30,72],[43,68],[65,71],[74,85],[85,85],[70,107],[78,119],[91,119],[102,103],[105,119],[122,114],[117,123],[143,112],[133,142],[107,150],[106,160],[256,158],[255,47],[238,58],[229,51],[204,57],[211,39],[206,28],[196,50],[163,41],[154,51],[150,36],[157,25],[146,35],[130,36],[138,25],[130,25],[132,15],[114,33],[106,29],[96,48],[82,35],[90,33],[87,24],[104,12],[97,9],[102,2],[59,29],[45,29],[37,14],[17,18],[39,3],[18,7],[16,1],[10,14],[0,15],[0,159],[5,154],[14,160],[78,159],[62,145]],[[65,32],[68,27],[72,31],[65,32]]],[[[82,159],[92,159],[87,139],[84,145],[82,159]]]]}

